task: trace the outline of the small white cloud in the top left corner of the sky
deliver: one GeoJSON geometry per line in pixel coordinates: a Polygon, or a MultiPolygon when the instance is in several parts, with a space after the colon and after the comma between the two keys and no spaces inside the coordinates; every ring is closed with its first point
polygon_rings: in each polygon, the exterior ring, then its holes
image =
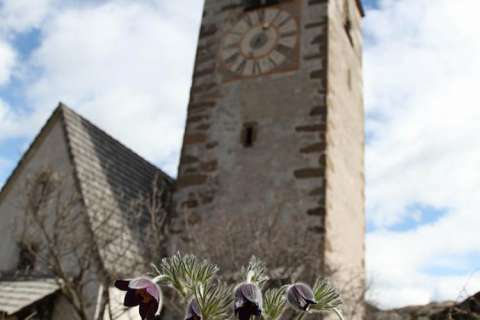
{"type": "Polygon", "coordinates": [[[0,1],[0,31],[24,32],[39,27],[52,3],[53,0],[0,1]]]}

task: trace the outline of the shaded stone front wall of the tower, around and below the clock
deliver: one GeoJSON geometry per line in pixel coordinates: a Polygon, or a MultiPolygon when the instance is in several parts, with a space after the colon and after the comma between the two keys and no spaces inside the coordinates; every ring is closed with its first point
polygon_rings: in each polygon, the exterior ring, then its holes
{"type": "Polygon", "coordinates": [[[274,211],[302,221],[298,232],[308,232],[323,252],[328,2],[298,0],[297,70],[223,83],[219,44],[243,14],[240,2],[205,3],[176,209],[258,219],[274,211]],[[252,122],[257,138],[245,148],[242,127],[252,122]]]}

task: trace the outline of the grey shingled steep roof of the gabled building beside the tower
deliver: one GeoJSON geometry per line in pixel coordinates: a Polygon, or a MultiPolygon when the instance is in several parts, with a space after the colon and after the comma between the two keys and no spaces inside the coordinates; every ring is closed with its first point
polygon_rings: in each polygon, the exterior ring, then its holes
{"type": "Polygon", "coordinates": [[[62,121],[75,180],[82,196],[94,237],[99,243],[99,253],[107,271],[131,274],[141,261],[141,235],[137,226],[130,225],[129,208],[132,201],[151,192],[152,184],[159,178],[167,187],[174,179],[143,159],[105,131],[60,103],[52,116],[19,161],[16,169],[0,191],[8,187],[22,163],[35,147],[46,129],[55,121],[62,121]],[[98,228],[99,223],[106,226],[98,228]],[[105,239],[109,228],[121,227],[122,236],[105,239]]]}

